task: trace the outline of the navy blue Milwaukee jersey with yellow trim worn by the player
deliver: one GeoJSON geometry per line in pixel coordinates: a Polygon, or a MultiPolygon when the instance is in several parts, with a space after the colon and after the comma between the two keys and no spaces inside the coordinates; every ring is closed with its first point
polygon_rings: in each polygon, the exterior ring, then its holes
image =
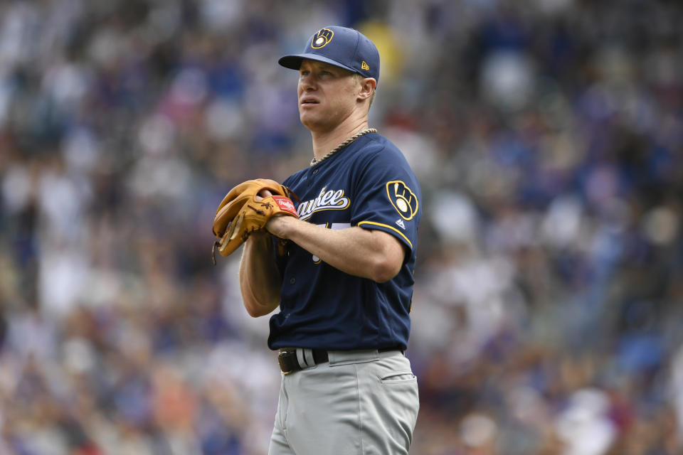
{"type": "Polygon", "coordinates": [[[365,134],[283,184],[299,196],[301,220],[329,229],[383,230],[405,245],[406,259],[396,277],[377,283],[341,272],[290,242],[285,255],[276,254],[282,290],[268,346],[405,349],[421,194],[401,151],[380,134],[365,134]]]}

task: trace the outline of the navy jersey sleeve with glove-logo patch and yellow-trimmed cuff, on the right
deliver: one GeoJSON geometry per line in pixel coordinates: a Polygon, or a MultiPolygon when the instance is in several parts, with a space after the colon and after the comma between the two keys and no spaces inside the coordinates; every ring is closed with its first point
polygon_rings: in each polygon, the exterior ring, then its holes
{"type": "Polygon", "coordinates": [[[361,163],[356,174],[351,225],[388,232],[412,251],[421,198],[418,180],[401,152],[377,151],[361,163]]]}

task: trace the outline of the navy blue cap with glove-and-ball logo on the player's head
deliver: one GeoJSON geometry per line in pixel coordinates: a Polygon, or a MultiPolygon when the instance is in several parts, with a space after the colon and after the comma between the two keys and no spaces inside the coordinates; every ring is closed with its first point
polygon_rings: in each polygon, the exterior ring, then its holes
{"type": "Polygon", "coordinates": [[[379,52],[372,41],[354,28],[321,28],[309,38],[303,53],[285,55],[277,63],[298,70],[304,58],[374,77],[379,82],[379,52]]]}

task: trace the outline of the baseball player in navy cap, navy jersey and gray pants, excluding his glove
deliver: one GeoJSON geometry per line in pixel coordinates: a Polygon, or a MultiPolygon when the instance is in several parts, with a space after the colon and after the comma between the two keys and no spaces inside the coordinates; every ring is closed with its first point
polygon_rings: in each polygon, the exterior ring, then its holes
{"type": "MultiPolygon", "coordinates": [[[[296,214],[248,235],[240,262],[248,313],[280,307],[268,338],[282,369],[269,454],[408,454],[419,401],[403,353],[421,196],[401,151],[368,128],[379,54],[358,31],[329,26],[279,63],[299,71],[314,159],[282,183],[296,214]]],[[[273,194],[252,200],[282,198],[273,194]]]]}

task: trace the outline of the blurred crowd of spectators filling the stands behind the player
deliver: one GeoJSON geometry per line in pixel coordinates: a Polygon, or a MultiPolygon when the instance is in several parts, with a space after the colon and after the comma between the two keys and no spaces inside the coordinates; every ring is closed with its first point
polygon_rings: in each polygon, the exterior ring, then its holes
{"type": "Polygon", "coordinates": [[[0,2],[0,454],[260,455],[280,373],[211,222],[307,166],[322,26],[422,183],[418,455],[683,454],[683,6],[0,2]]]}

